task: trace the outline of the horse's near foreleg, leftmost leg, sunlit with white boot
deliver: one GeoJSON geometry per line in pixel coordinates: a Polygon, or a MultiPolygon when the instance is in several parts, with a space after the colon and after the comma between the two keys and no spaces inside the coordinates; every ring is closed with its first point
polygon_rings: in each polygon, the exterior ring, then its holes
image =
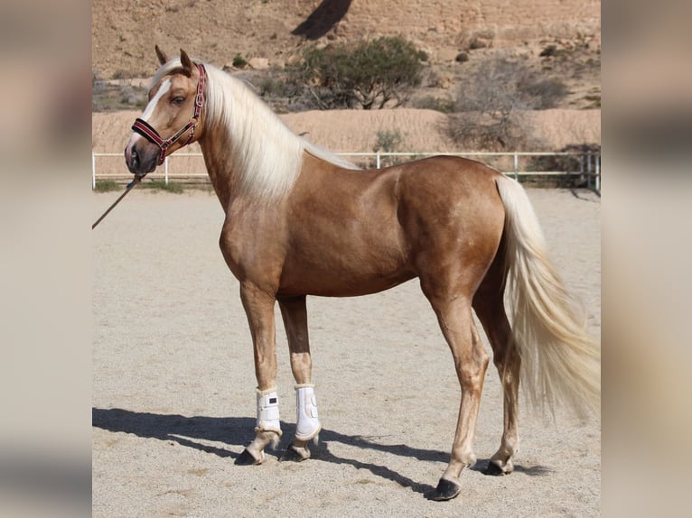
{"type": "Polygon", "coordinates": [[[276,331],[274,295],[243,282],[240,298],[248,316],[255,351],[257,376],[257,426],[255,439],[243,451],[236,464],[261,464],[268,445],[276,448],[281,437],[279,403],[276,393],[276,331]]]}

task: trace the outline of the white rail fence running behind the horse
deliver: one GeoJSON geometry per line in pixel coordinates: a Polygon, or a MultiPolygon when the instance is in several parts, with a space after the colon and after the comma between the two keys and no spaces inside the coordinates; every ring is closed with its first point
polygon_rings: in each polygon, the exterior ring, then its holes
{"type": "MultiPolygon", "coordinates": [[[[355,157],[354,162],[364,161],[363,165],[380,168],[402,159],[414,160],[426,156],[445,154],[463,156],[488,163],[515,180],[521,177],[561,177],[578,179],[587,189],[601,190],[601,155],[598,153],[336,153],[343,157],[355,157]],[[552,161],[547,160],[552,157],[552,161]],[[538,169],[541,160],[550,165],[563,166],[561,171],[538,169]],[[374,163],[372,163],[374,161],[374,163]]],[[[148,178],[164,180],[209,181],[204,169],[201,153],[175,153],[166,157],[162,168],[148,175],[148,178]],[[173,164],[175,164],[173,166],[173,164]]],[[[132,175],[126,171],[123,153],[91,153],[91,187],[96,189],[97,180],[129,181],[132,175]],[[107,163],[110,161],[111,163],[107,163]],[[97,162],[101,162],[97,168],[97,162]],[[97,171],[98,169],[98,171],[97,171]]]]}

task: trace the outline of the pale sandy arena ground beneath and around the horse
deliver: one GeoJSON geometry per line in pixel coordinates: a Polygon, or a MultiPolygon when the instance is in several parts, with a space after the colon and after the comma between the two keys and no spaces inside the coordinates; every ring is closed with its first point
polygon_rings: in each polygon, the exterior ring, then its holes
{"type": "MultiPolygon", "coordinates": [[[[553,258],[601,329],[601,201],[529,190],[553,258]]],[[[117,197],[94,194],[94,219],[117,197]]],[[[459,385],[417,282],[356,299],[308,301],[323,421],[313,459],[276,458],[295,430],[277,315],[285,431],[260,467],[237,467],[253,437],[255,379],[238,282],[207,192],[132,192],[93,232],[93,516],[596,516],[600,423],[522,407],[510,476],[484,476],[501,433],[490,368],[476,467],[451,502],[425,498],[449,458],[459,385]]],[[[278,311],[277,311],[278,312],[278,311]]],[[[490,348],[489,348],[490,350],[490,348]]]]}

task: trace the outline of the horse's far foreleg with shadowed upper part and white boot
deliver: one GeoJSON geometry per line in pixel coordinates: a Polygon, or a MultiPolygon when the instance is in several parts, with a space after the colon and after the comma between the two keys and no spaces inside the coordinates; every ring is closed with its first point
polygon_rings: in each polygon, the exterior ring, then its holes
{"type": "Polygon", "coordinates": [[[317,414],[317,400],[312,384],[313,360],[310,356],[305,297],[280,299],[279,308],[291,351],[291,370],[295,378],[295,441],[286,450],[284,459],[310,458],[307,444],[317,438],[322,425],[317,414]]]}

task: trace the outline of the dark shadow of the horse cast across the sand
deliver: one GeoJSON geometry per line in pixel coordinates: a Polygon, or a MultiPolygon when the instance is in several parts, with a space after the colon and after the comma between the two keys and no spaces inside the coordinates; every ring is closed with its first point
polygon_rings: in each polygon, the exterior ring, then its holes
{"type": "MultiPolygon", "coordinates": [[[[230,447],[244,448],[252,439],[250,431],[255,427],[255,419],[249,417],[186,417],[176,414],[133,412],[119,408],[92,408],[91,424],[101,430],[131,433],[145,439],[173,441],[181,446],[198,449],[220,458],[235,459],[240,456],[239,453],[230,449],[205,444],[205,442],[220,442],[230,447]]],[[[294,423],[282,421],[281,427],[284,430],[285,438],[294,437],[294,423]]],[[[416,482],[389,467],[362,462],[355,458],[339,457],[332,453],[329,448],[330,443],[334,442],[360,449],[382,451],[405,458],[416,458],[425,462],[446,464],[449,461],[449,453],[441,450],[412,448],[406,444],[380,444],[360,435],[346,435],[335,430],[323,429],[320,431],[320,442],[317,446],[313,446],[312,458],[333,464],[367,469],[375,476],[396,482],[399,486],[410,488],[412,491],[426,497],[433,495],[435,487],[416,482]]],[[[282,444],[282,446],[285,448],[285,445],[282,444]]],[[[278,451],[280,456],[280,450],[278,451]]],[[[267,452],[267,454],[269,453],[267,452]]],[[[489,459],[479,459],[472,469],[484,473],[489,462],[489,459]]],[[[546,476],[550,473],[547,467],[541,466],[515,466],[515,471],[528,476],[546,476]]]]}

